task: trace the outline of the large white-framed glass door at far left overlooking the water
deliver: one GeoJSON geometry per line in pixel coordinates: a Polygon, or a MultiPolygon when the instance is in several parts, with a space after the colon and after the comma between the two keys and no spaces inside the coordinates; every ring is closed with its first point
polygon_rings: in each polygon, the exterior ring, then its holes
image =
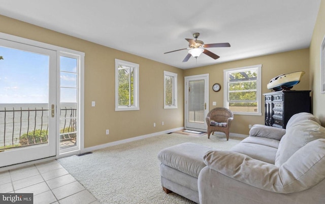
{"type": "Polygon", "coordinates": [[[0,167],[56,155],[56,52],[0,39],[0,167]]]}

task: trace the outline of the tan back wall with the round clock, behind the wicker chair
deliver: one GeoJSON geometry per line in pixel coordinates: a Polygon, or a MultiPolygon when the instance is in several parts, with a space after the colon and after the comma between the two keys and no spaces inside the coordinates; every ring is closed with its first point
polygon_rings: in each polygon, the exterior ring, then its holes
{"type": "MultiPolygon", "coordinates": [[[[184,70],[184,76],[209,73],[209,107],[212,109],[214,107],[223,107],[223,70],[257,64],[262,64],[262,93],[271,92],[267,89],[267,84],[271,78],[283,73],[294,71],[305,71],[306,73],[302,76],[301,82],[296,85],[293,90],[309,90],[309,49],[186,69],[184,70]],[[214,83],[219,83],[222,86],[220,92],[212,91],[212,85],[214,83]],[[217,102],[216,106],[212,106],[213,101],[217,102]]],[[[248,135],[249,124],[264,124],[264,101],[264,97],[262,97],[262,116],[235,115],[231,127],[231,133],[248,135]]]]}

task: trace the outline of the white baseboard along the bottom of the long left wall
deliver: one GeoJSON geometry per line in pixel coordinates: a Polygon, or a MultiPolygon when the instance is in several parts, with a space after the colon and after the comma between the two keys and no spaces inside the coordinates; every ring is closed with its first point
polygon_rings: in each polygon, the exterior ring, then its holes
{"type": "Polygon", "coordinates": [[[133,137],[133,138],[128,138],[128,139],[119,140],[119,141],[115,141],[115,142],[109,142],[109,143],[106,143],[106,144],[87,147],[87,148],[82,149],[80,151],[80,153],[82,154],[82,153],[89,152],[89,151],[94,151],[94,150],[98,150],[98,149],[102,149],[102,148],[106,148],[106,147],[111,147],[111,146],[114,146],[114,145],[119,145],[119,144],[123,144],[123,143],[127,143],[127,142],[133,142],[133,141],[136,141],[136,140],[141,140],[141,139],[145,139],[145,138],[149,138],[149,137],[154,137],[154,136],[158,136],[158,135],[162,135],[162,134],[166,134],[166,133],[170,133],[170,132],[175,132],[175,131],[179,131],[179,130],[183,130],[183,129],[184,129],[184,127],[175,128],[175,129],[161,131],[161,132],[157,132],[157,133],[151,133],[151,134],[148,134],[148,135],[141,135],[141,136],[138,136],[138,137],[133,137]]]}

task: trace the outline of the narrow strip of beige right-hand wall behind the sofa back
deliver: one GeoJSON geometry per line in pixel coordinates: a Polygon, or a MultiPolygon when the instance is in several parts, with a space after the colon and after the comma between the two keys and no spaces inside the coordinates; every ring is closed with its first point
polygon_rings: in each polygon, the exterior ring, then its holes
{"type": "Polygon", "coordinates": [[[310,44],[310,89],[313,90],[313,113],[325,126],[325,94],[320,93],[320,45],[325,35],[325,1],[321,0],[310,44]]]}

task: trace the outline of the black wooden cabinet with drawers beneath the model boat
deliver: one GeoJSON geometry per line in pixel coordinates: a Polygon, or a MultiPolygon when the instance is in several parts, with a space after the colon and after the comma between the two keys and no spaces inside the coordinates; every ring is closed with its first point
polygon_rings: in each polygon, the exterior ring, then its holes
{"type": "Polygon", "coordinates": [[[282,90],[265,96],[265,125],[285,129],[291,116],[311,112],[311,91],[282,90]]]}

